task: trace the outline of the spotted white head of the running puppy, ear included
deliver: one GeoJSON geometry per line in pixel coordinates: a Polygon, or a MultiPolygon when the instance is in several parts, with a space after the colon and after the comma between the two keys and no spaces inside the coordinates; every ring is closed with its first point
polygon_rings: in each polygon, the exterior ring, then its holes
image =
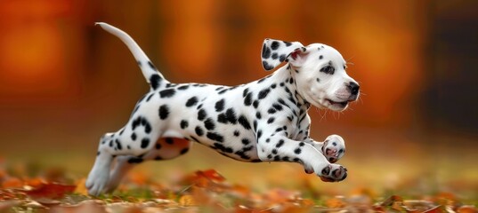
{"type": "Polygon", "coordinates": [[[343,111],[359,98],[360,86],[345,72],[344,58],[326,44],[304,46],[298,42],[265,39],[262,59],[265,70],[288,62],[297,92],[313,106],[343,111]]]}

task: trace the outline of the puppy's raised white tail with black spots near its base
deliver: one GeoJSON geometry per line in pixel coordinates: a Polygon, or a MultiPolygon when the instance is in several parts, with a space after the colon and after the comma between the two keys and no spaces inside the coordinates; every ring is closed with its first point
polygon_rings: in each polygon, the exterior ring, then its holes
{"type": "Polygon", "coordinates": [[[168,83],[163,75],[158,72],[158,69],[154,67],[148,56],[144,54],[144,51],[140,48],[138,43],[134,42],[133,38],[127,35],[123,30],[115,28],[104,22],[96,22],[95,25],[99,25],[110,34],[117,36],[123,43],[126,44],[129,51],[133,53],[134,59],[138,62],[142,70],[142,75],[146,78],[146,82],[150,83],[153,90],[156,90],[161,85],[168,83]]]}

